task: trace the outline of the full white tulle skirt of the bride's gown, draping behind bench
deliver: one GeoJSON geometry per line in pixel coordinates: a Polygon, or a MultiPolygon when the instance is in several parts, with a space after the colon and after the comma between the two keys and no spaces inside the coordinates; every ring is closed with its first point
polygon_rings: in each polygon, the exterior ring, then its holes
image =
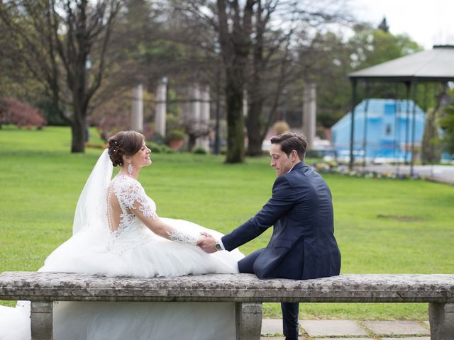
{"type": "MultiPolygon", "coordinates": [[[[221,234],[184,220],[162,219],[185,232],[221,234]]],[[[238,273],[238,250],[206,254],[140,228],[115,239],[79,232],[48,256],[40,271],[105,276],[184,276],[238,273]]],[[[224,339],[236,337],[229,302],[55,302],[54,339],[224,339]]],[[[29,340],[30,304],[0,306],[0,339],[29,340]]]]}

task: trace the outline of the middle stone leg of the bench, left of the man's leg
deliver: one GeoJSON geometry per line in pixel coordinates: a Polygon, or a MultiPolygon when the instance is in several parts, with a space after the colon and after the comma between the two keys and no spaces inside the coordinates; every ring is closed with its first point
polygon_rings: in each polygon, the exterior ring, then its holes
{"type": "Polygon", "coordinates": [[[262,304],[236,303],[236,340],[260,340],[262,304]]]}

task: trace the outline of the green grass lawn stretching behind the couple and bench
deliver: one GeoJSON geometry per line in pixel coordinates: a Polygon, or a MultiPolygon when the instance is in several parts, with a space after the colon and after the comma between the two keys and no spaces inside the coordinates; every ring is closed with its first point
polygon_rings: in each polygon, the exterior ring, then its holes
{"type": "MultiPolygon", "coordinates": [[[[35,271],[72,233],[80,191],[101,149],[70,154],[70,130],[0,130],[0,272],[35,271]]],[[[221,232],[270,197],[269,160],[226,165],[223,157],[152,154],[140,181],[157,213],[221,232]]],[[[326,175],[333,193],[342,273],[453,273],[454,187],[425,181],[326,175]]],[[[271,229],[240,248],[267,244],[271,229]]],[[[11,302],[3,302],[12,305],[11,302]]],[[[265,316],[279,317],[278,304],[265,316]]],[[[426,304],[301,304],[303,318],[427,319],[426,304]]]]}

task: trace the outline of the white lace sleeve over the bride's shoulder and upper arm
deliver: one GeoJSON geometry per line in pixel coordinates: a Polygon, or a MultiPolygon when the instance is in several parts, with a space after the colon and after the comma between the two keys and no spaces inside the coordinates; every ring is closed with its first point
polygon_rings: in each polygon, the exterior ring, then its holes
{"type": "Polygon", "coordinates": [[[121,185],[114,188],[116,197],[121,207],[125,210],[138,209],[145,217],[157,219],[156,205],[151,200],[140,186],[140,183],[127,179],[121,181],[121,185]]]}

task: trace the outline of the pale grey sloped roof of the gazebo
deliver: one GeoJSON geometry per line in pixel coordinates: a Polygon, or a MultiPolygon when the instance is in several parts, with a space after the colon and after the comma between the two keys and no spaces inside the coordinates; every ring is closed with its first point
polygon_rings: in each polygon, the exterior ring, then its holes
{"type": "Polygon", "coordinates": [[[350,79],[388,81],[454,81],[454,45],[406,55],[348,74],[350,79]]]}

